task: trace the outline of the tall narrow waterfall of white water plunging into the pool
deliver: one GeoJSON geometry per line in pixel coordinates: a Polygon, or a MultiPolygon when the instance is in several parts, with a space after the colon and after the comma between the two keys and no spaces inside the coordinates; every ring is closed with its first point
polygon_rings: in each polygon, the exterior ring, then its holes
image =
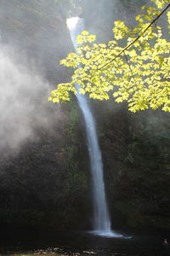
{"type": "MultiPolygon", "coordinates": [[[[73,17],[67,20],[67,26],[70,29],[71,40],[77,47],[76,38],[82,33],[83,20],[78,17],[73,17]]],[[[77,91],[79,84],[75,84],[77,91]]],[[[93,178],[93,192],[94,192],[94,230],[92,233],[99,236],[116,236],[111,230],[111,218],[108,212],[108,207],[105,198],[105,183],[103,177],[103,164],[101,152],[99,149],[99,142],[95,128],[94,116],[88,106],[88,100],[85,95],[77,93],[77,102],[82,109],[83,117],[85,120],[87,137],[88,137],[88,152],[90,157],[91,173],[93,178]]]]}

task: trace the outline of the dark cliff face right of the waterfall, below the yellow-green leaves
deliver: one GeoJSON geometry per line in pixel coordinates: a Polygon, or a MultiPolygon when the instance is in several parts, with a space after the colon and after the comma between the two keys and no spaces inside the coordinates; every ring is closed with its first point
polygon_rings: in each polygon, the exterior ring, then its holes
{"type": "Polygon", "coordinates": [[[169,114],[95,104],[113,227],[169,230],[169,114]]]}

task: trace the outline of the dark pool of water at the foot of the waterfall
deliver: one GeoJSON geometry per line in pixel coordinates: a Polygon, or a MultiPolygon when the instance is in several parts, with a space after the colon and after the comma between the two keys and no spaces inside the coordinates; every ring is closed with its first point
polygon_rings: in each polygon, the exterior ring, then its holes
{"type": "Polygon", "coordinates": [[[88,232],[33,232],[8,230],[0,241],[0,255],[99,255],[161,256],[170,255],[170,245],[163,246],[164,232],[129,233],[131,239],[100,237],[88,232]]]}

